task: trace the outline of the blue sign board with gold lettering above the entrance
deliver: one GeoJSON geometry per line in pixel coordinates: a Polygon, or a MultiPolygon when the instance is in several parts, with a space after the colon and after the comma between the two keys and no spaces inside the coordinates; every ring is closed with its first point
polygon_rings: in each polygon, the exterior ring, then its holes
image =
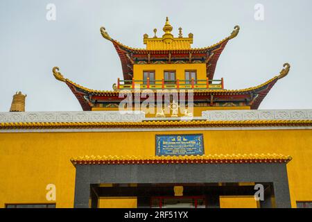
{"type": "Polygon", "coordinates": [[[156,155],[203,155],[202,134],[156,135],[156,155]]]}

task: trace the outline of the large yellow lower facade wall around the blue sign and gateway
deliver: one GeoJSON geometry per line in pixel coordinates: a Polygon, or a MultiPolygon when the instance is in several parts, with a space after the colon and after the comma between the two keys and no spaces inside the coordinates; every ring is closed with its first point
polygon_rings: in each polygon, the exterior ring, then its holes
{"type": "MultiPolygon", "coordinates": [[[[205,153],[282,153],[288,163],[292,206],[312,200],[312,130],[206,130],[205,153]]],[[[56,185],[56,207],[73,207],[75,168],[80,155],[155,155],[155,134],[0,133],[0,207],[5,203],[49,203],[46,185],[56,185]]],[[[52,201],[53,202],[53,201],[52,201]]]]}

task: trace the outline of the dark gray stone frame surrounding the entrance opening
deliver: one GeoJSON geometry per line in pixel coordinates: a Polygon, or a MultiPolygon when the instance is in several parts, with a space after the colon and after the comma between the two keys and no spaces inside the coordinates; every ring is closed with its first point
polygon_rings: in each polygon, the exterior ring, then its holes
{"type": "MultiPolygon", "coordinates": [[[[77,164],[74,207],[103,183],[270,182],[276,207],[291,207],[286,164],[77,164]]],[[[265,206],[265,204],[263,204],[265,206]]]]}

